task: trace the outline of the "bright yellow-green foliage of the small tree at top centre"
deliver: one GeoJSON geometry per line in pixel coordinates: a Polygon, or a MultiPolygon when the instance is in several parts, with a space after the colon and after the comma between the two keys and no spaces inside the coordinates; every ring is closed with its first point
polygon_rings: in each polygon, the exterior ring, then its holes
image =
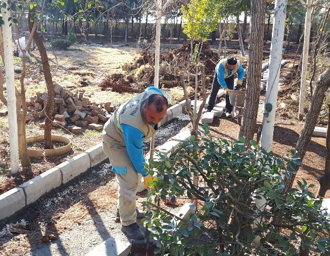
{"type": "Polygon", "coordinates": [[[221,0],[192,0],[187,7],[182,5],[183,32],[191,39],[206,41],[209,33],[217,28],[221,2],[221,0]]]}

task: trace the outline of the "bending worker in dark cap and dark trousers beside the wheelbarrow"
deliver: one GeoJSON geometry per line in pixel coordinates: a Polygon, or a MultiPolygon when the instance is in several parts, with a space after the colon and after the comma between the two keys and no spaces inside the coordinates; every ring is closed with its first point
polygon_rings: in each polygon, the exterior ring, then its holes
{"type": "Polygon", "coordinates": [[[228,90],[234,88],[234,74],[237,72],[237,85],[242,85],[244,69],[242,64],[235,57],[223,58],[215,67],[210,98],[207,104],[207,112],[211,112],[220,86],[226,90],[226,116],[231,117],[232,106],[229,100],[228,90]]]}

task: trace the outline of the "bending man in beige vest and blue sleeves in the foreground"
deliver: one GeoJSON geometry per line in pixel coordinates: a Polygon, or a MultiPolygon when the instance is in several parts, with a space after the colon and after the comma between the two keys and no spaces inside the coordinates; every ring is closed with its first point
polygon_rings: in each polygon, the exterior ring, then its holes
{"type": "MultiPolygon", "coordinates": [[[[118,181],[118,209],[122,231],[130,238],[143,239],[136,224],[136,192],[142,176],[152,182],[143,171],[145,159],[142,144],[158,129],[168,103],[161,90],[150,86],[146,91],[122,104],[105,123],[103,151],[109,157],[118,181]]],[[[147,185],[146,185],[147,187],[147,185]]]]}

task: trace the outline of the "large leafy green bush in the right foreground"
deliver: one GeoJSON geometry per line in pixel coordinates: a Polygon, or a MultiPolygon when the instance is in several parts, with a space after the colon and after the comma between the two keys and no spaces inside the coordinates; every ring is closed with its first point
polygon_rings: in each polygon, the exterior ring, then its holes
{"type": "MultiPolygon", "coordinates": [[[[204,129],[209,135],[207,125],[204,129]]],[[[330,218],[308,191],[312,185],[303,180],[298,182],[299,189],[282,192],[284,176],[301,164],[297,152],[276,158],[257,148],[255,141],[251,145],[246,147],[244,138],[229,142],[205,136],[197,142],[192,137],[175,154],[158,152],[159,160],[149,160],[147,168],[151,174],[157,171],[157,177],[144,202],[152,211],[142,222],[157,242],[155,253],[297,255],[300,245],[330,255],[330,218]],[[194,185],[194,174],[198,185],[194,185]],[[193,213],[183,220],[159,206],[166,197],[172,201],[197,198],[200,205],[196,209],[192,204],[193,213]],[[272,252],[262,246],[271,243],[272,252]]]]}

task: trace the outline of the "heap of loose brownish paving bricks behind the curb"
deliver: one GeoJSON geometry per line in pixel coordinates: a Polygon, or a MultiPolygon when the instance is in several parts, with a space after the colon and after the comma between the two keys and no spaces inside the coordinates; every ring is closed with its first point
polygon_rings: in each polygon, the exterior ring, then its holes
{"type": "MultiPolygon", "coordinates": [[[[74,94],[61,85],[54,84],[54,86],[53,126],[66,127],[75,134],[81,132],[81,127],[100,130],[115,110],[111,102],[91,103],[88,98],[83,97],[84,91],[74,94]]],[[[28,111],[31,112],[27,119],[44,118],[43,108],[46,101],[47,92],[37,92],[36,96],[27,103],[28,111]]],[[[44,122],[40,124],[41,127],[44,125],[44,122]]]]}

